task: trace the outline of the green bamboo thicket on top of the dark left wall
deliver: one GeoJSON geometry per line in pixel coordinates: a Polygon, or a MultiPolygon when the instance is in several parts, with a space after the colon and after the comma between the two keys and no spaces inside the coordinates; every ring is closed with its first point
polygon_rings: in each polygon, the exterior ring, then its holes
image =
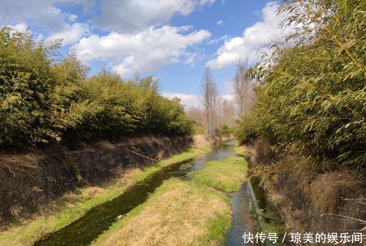
{"type": "Polygon", "coordinates": [[[102,69],[88,77],[89,68],[59,48],[60,41],[35,42],[30,33],[1,28],[0,150],[193,131],[179,99],[160,95],[151,76],[124,80],[102,69]]]}

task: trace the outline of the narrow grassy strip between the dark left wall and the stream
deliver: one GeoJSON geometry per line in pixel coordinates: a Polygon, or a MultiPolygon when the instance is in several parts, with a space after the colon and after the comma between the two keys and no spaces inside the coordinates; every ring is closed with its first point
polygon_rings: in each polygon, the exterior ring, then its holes
{"type": "Polygon", "coordinates": [[[107,184],[78,189],[64,195],[44,208],[35,209],[27,218],[13,219],[0,231],[0,245],[30,246],[45,233],[56,231],[77,220],[91,208],[111,200],[129,186],[146,178],[150,173],[173,163],[196,157],[209,148],[204,144],[181,154],[173,155],[144,169],[126,170],[107,184]]]}

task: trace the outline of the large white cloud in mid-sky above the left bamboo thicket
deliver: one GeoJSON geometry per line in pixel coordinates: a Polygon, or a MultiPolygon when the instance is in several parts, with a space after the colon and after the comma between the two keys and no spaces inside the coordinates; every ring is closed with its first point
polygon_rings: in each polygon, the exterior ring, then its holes
{"type": "Polygon", "coordinates": [[[192,27],[163,26],[137,34],[111,32],[83,37],[73,48],[83,62],[102,60],[112,64],[121,76],[133,75],[136,70],[152,72],[167,64],[194,64],[195,53],[187,48],[209,38],[206,30],[191,31],[192,27]]]}

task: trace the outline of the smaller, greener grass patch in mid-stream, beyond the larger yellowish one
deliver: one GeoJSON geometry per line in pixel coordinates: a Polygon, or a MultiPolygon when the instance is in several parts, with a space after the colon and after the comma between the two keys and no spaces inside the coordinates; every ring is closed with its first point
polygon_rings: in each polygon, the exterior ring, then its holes
{"type": "Polygon", "coordinates": [[[197,183],[215,189],[233,192],[246,180],[246,162],[243,157],[229,156],[222,161],[210,161],[202,170],[190,172],[197,183]]]}

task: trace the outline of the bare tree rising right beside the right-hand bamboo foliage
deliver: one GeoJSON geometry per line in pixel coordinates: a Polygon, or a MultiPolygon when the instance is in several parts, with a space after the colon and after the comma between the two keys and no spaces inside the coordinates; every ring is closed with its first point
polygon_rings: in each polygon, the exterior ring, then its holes
{"type": "Polygon", "coordinates": [[[245,112],[245,105],[249,101],[248,92],[252,87],[252,82],[245,77],[248,68],[248,59],[239,61],[236,64],[236,71],[232,81],[234,101],[239,114],[244,114],[245,112]]]}

